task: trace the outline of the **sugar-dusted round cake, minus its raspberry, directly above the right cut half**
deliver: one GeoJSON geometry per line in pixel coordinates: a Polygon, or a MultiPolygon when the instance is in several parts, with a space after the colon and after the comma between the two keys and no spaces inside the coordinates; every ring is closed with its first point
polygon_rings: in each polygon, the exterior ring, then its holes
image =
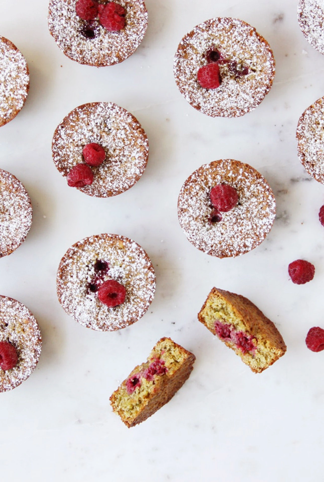
{"type": "Polygon", "coordinates": [[[219,258],[238,256],[258,246],[274,223],[275,199],[258,171],[225,159],[205,164],[181,188],[178,217],[188,240],[204,253],[219,258]],[[212,187],[226,184],[237,191],[237,205],[212,222],[212,187]]]}

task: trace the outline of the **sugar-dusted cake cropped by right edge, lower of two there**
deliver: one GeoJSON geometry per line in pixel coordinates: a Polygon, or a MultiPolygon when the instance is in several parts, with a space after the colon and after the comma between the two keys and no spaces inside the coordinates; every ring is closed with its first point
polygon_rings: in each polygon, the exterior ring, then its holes
{"type": "Polygon", "coordinates": [[[300,116],[296,137],[298,157],[308,174],[324,184],[324,97],[300,116]]]}

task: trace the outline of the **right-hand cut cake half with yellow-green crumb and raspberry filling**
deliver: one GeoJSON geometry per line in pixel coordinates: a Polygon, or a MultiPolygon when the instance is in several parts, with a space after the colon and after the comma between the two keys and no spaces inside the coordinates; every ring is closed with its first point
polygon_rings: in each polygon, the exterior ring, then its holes
{"type": "Polygon", "coordinates": [[[286,353],[274,323],[244,296],[212,288],[198,320],[254,373],[263,372],[286,353]]]}

